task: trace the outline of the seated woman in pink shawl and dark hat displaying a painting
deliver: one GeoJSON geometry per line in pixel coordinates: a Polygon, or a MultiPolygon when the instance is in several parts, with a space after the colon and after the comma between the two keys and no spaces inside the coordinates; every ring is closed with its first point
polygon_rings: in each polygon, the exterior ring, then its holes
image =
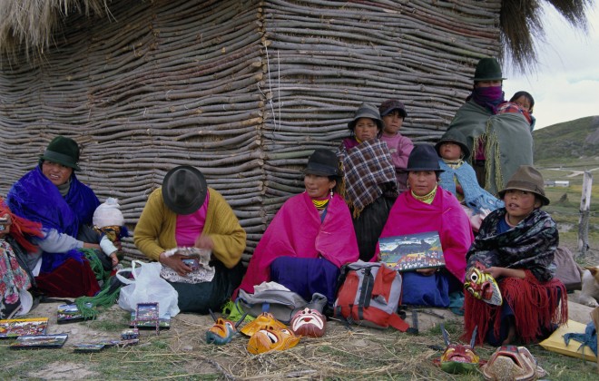
{"type": "Polygon", "coordinates": [[[407,171],[409,191],[393,205],[381,238],[438,232],[446,267],[403,272],[402,303],[448,307],[449,295],[463,288],[466,251],[474,240],[470,222],[456,197],[437,185],[442,170],[432,146],[417,145],[407,171]]]}

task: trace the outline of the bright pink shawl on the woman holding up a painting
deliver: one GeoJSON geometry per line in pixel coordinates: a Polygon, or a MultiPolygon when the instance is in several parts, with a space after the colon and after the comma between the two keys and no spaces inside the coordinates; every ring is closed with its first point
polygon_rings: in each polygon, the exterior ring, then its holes
{"type": "MultiPolygon", "coordinates": [[[[474,241],[470,221],[451,192],[437,188],[432,204],[401,193],[389,212],[381,237],[438,231],[446,268],[457,279],[466,276],[466,252],[474,241]]],[[[377,250],[378,251],[378,250],[377,250]]]]}

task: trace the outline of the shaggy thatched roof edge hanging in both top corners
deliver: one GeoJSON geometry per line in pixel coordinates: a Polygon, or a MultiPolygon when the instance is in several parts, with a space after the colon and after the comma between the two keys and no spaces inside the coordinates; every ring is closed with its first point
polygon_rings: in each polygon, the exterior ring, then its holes
{"type": "MultiPolygon", "coordinates": [[[[545,0],[576,28],[587,30],[586,11],[594,0],[545,0]]],[[[0,2],[0,54],[14,54],[25,45],[27,53],[44,54],[51,36],[66,15],[109,16],[106,0],[3,0],[0,2]]],[[[536,48],[544,42],[543,3],[539,0],[503,0],[500,15],[506,58],[522,72],[535,67],[536,48]]]]}

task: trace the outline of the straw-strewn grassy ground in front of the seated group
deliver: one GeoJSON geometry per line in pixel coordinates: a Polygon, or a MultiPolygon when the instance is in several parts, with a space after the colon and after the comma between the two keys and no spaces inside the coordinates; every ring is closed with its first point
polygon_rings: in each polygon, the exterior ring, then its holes
{"type": "MultiPolygon", "coordinates": [[[[109,322],[67,325],[71,326],[70,336],[76,338],[76,331],[81,330],[118,337],[127,326],[128,314],[111,308],[108,315],[109,322]]],[[[459,320],[446,325],[451,340],[457,341],[459,320]]],[[[302,338],[290,350],[258,356],[246,351],[245,337],[236,337],[223,347],[205,344],[205,331],[210,326],[207,317],[180,315],[173,319],[172,328],[159,336],[142,331],[138,346],[113,347],[94,354],[74,353],[69,341],[62,349],[20,351],[9,349],[10,341],[4,341],[0,379],[482,379],[479,373],[449,375],[433,364],[445,348],[438,326],[413,336],[365,327],[348,330],[331,321],[325,337],[302,338]]],[[[527,347],[549,372],[548,379],[597,379],[591,363],[536,345],[527,347]]],[[[476,352],[486,359],[495,349],[476,347],[476,352]]]]}

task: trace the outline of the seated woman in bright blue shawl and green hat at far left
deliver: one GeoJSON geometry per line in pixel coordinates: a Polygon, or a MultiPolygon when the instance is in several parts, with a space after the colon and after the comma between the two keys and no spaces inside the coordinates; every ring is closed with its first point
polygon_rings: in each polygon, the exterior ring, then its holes
{"type": "Polygon", "coordinates": [[[56,136],[40,156],[39,165],[16,181],[6,203],[27,220],[40,222],[44,238],[36,239],[39,252],[29,253],[27,265],[44,296],[93,296],[98,282],[89,261],[77,249],[100,249],[99,237],[89,229],[100,201],[77,180],[79,146],[56,136]]]}

